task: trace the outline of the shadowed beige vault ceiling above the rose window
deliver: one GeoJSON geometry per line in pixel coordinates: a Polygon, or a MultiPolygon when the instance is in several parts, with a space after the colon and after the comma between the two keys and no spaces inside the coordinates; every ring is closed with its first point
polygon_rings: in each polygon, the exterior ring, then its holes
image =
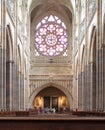
{"type": "Polygon", "coordinates": [[[34,17],[40,18],[41,16],[49,13],[56,14],[66,20],[72,21],[73,8],[70,0],[32,0],[29,8],[31,14],[31,22],[34,17]]]}

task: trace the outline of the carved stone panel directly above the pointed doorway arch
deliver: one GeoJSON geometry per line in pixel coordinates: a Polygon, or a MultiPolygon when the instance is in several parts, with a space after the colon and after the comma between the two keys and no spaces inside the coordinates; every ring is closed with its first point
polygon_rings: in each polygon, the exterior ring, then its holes
{"type": "Polygon", "coordinates": [[[30,93],[32,94],[37,88],[44,86],[46,84],[56,84],[65,88],[69,93],[72,94],[72,76],[57,76],[53,73],[49,75],[34,75],[30,76],[30,93]]]}

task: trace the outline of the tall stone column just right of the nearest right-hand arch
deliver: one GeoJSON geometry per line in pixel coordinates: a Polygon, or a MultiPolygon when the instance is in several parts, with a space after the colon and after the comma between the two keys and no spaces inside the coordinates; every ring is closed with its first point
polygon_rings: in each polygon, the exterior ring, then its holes
{"type": "Polygon", "coordinates": [[[102,86],[102,0],[97,1],[97,46],[96,46],[96,108],[103,110],[102,86]]]}

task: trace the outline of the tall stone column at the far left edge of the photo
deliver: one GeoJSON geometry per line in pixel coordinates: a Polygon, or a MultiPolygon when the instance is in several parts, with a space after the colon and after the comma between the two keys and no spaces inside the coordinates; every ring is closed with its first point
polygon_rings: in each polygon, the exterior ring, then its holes
{"type": "Polygon", "coordinates": [[[5,108],[4,98],[4,49],[5,48],[5,1],[0,0],[0,109],[5,108]]]}

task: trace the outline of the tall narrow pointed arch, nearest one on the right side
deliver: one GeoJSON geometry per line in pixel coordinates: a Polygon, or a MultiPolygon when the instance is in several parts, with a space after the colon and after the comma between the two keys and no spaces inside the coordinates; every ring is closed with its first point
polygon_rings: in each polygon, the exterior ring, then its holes
{"type": "Polygon", "coordinates": [[[91,109],[96,109],[96,26],[93,26],[89,47],[91,109]]]}

